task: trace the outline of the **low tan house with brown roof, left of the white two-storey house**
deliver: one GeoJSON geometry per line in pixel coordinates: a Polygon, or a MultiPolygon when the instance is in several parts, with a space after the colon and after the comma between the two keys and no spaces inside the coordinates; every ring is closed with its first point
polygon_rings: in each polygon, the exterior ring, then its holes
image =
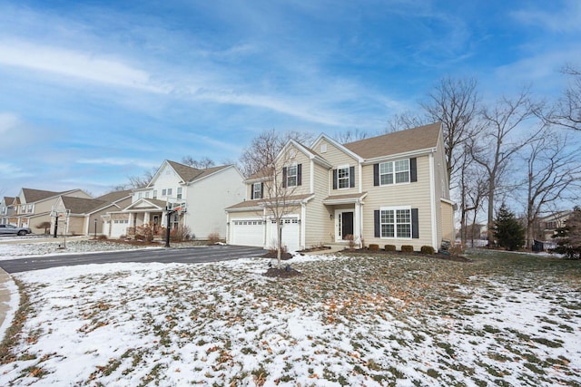
{"type": "Polygon", "coordinates": [[[132,196],[131,190],[115,191],[98,198],[61,196],[54,203],[51,233],[54,233],[55,219],[59,219],[59,235],[102,235],[105,225],[103,216],[131,204],[132,196]],[[59,214],[64,217],[58,217],[59,214]]]}

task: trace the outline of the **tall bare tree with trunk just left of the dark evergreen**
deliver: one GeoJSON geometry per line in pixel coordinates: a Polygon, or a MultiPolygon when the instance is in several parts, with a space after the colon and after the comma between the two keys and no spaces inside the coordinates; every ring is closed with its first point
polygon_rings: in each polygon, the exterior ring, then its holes
{"type": "Polygon", "coordinates": [[[536,138],[537,132],[517,133],[524,123],[535,117],[540,107],[531,101],[528,89],[515,99],[503,96],[492,107],[481,112],[483,138],[471,140],[472,157],[485,170],[487,179],[487,231],[488,241],[493,240],[495,198],[501,188],[512,160],[517,152],[536,138]]]}

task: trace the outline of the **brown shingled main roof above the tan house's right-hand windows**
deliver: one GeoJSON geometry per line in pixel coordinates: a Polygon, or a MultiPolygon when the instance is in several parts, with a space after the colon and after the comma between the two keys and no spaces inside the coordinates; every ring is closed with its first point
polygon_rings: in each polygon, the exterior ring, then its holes
{"type": "Polygon", "coordinates": [[[350,142],[343,146],[364,159],[374,159],[414,150],[428,150],[438,146],[441,127],[441,122],[435,122],[405,131],[394,131],[350,142]]]}

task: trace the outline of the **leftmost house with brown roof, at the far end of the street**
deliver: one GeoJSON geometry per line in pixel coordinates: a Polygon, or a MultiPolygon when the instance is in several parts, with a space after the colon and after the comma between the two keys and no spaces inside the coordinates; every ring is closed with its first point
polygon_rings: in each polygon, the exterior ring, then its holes
{"type": "Polygon", "coordinates": [[[42,189],[21,189],[14,200],[14,215],[10,223],[16,227],[29,227],[33,233],[44,233],[44,222],[51,222],[51,211],[61,197],[92,198],[81,189],[63,192],[42,189]]]}

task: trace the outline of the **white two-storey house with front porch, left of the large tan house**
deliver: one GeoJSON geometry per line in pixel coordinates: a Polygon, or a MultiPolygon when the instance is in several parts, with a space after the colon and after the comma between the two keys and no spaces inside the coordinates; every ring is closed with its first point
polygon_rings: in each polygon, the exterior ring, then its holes
{"type": "Polygon", "coordinates": [[[131,236],[136,228],[150,224],[189,227],[192,237],[205,238],[212,233],[226,236],[224,208],[244,198],[244,178],[234,165],[196,169],[164,160],[153,179],[141,189],[133,189],[132,203],[123,210],[103,216],[108,237],[131,236]]]}

